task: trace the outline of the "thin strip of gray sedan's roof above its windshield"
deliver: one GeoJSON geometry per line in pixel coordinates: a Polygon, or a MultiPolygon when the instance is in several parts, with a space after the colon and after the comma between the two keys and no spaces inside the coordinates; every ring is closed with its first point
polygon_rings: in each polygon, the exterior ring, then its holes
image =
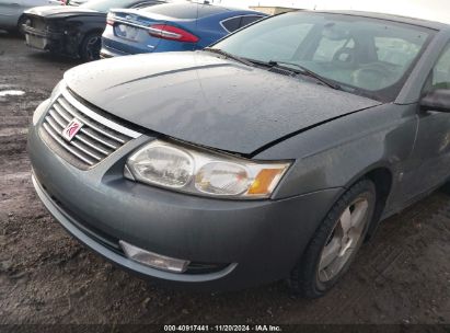
{"type": "Polygon", "coordinates": [[[417,25],[417,26],[428,27],[432,30],[450,28],[450,24],[446,24],[442,22],[429,21],[429,20],[424,20],[419,18],[402,16],[402,15],[389,14],[389,13],[377,13],[377,12],[354,11],[354,10],[304,10],[304,11],[314,12],[314,13],[342,14],[342,15],[378,19],[378,20],[417,25]]]}

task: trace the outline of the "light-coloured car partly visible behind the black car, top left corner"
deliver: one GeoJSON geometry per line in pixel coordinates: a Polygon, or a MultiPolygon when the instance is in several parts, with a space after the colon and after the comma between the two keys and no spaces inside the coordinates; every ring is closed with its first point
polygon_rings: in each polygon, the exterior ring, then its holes
{"type": "Polygon", "coordinates": [[[60,0],[0,0],[0,30],[22,32],[23,12],[38,5],[62,4],[60,0]]]}

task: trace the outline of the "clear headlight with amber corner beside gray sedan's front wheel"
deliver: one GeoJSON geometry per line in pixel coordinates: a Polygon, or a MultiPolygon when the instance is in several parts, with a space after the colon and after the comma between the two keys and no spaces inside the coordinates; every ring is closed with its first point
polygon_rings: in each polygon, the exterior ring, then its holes
{"type": "Polygon", "coordinates": [[[267,198],[289,165],[289,162],[258,163],[155,140],[128,159],[124,175],[197,195],[267,198]]]}

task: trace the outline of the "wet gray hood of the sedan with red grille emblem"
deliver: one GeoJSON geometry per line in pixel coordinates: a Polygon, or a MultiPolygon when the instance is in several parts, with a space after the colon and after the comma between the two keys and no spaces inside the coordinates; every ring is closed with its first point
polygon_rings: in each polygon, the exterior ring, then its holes
{"type": "Polygon", "coordinates": [[[76,94],[123,119],[243,154],[380,104],[207,51],[94,61],[67,71],[65,80],[76,94]]]}

